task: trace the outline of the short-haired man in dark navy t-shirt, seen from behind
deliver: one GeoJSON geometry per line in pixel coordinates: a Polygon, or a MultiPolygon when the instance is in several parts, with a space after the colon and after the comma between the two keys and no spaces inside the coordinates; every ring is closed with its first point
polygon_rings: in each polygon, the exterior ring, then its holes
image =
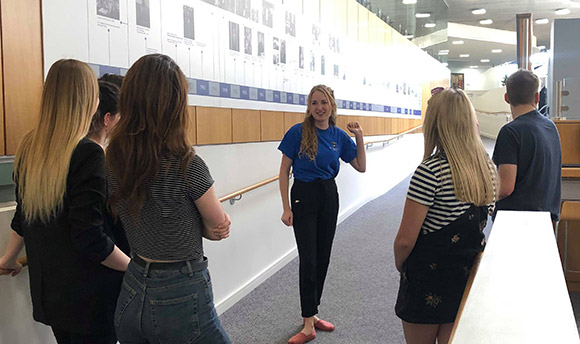
{"type": "MultiPolygon", "coordinates": [[[[536,109],[538,77],[520,69],[506,82],[505,101],[514,120],[497,137],[493,161],[498,166],[498,210],[549,211],[560,219],[562,152],[554,122],[536,109]]],[[[495,213],[494,213],[495,218],[495,213]]]]}

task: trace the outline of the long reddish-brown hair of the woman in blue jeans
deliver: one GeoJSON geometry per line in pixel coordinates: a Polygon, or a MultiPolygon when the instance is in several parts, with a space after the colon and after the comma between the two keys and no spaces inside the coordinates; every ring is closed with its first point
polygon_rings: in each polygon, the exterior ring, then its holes
{"type": "Polygon", "coordinates": [[[137,216],[162,155],[178,157],[185,172],[194,155],[187,139],[187,79],[170,57],[141,57],[127,72],[119,97],[121,118],[107,147],[106,164],[119,182],[109,205],[124,199],[137,216]]]}

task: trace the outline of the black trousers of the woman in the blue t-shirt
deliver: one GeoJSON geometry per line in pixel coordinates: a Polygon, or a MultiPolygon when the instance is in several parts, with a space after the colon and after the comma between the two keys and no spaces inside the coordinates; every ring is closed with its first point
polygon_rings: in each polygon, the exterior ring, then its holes
{"type": "Polygon", "coordinates": [[[294,180],[290,192],[294,236],[300,259],[302,317],[318,313],[330,263],[338,216],[338,191],[334,179],[306,183],[294,180]]]}

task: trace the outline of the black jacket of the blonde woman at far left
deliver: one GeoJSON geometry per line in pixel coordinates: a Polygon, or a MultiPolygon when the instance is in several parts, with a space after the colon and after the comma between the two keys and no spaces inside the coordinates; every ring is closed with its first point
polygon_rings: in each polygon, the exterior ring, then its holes
{"type": "Polygon", "coordinates": [[[70,162],[63,210],[48,224],[26,223],[16,192],[12,229],[26,245],[33,317],[59,330],[114,330],[123,274],[100,263],[114,248],[107,235],[112,236],[111,229],[103,228],[104,159],[98,144],[86,138],[79,142],[70,162]]]}

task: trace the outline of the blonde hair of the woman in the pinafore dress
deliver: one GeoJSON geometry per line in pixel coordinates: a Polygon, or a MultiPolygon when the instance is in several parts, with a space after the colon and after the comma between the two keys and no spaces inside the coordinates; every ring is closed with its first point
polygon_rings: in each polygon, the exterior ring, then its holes
{"type": "Polygon", "coordinates": [[[495,201],[497,171],[477,130],[475,109],[465,92],[449,88],[429,100],[423,159],[445,154],[457,199],[477,206],[495,201]]]}

